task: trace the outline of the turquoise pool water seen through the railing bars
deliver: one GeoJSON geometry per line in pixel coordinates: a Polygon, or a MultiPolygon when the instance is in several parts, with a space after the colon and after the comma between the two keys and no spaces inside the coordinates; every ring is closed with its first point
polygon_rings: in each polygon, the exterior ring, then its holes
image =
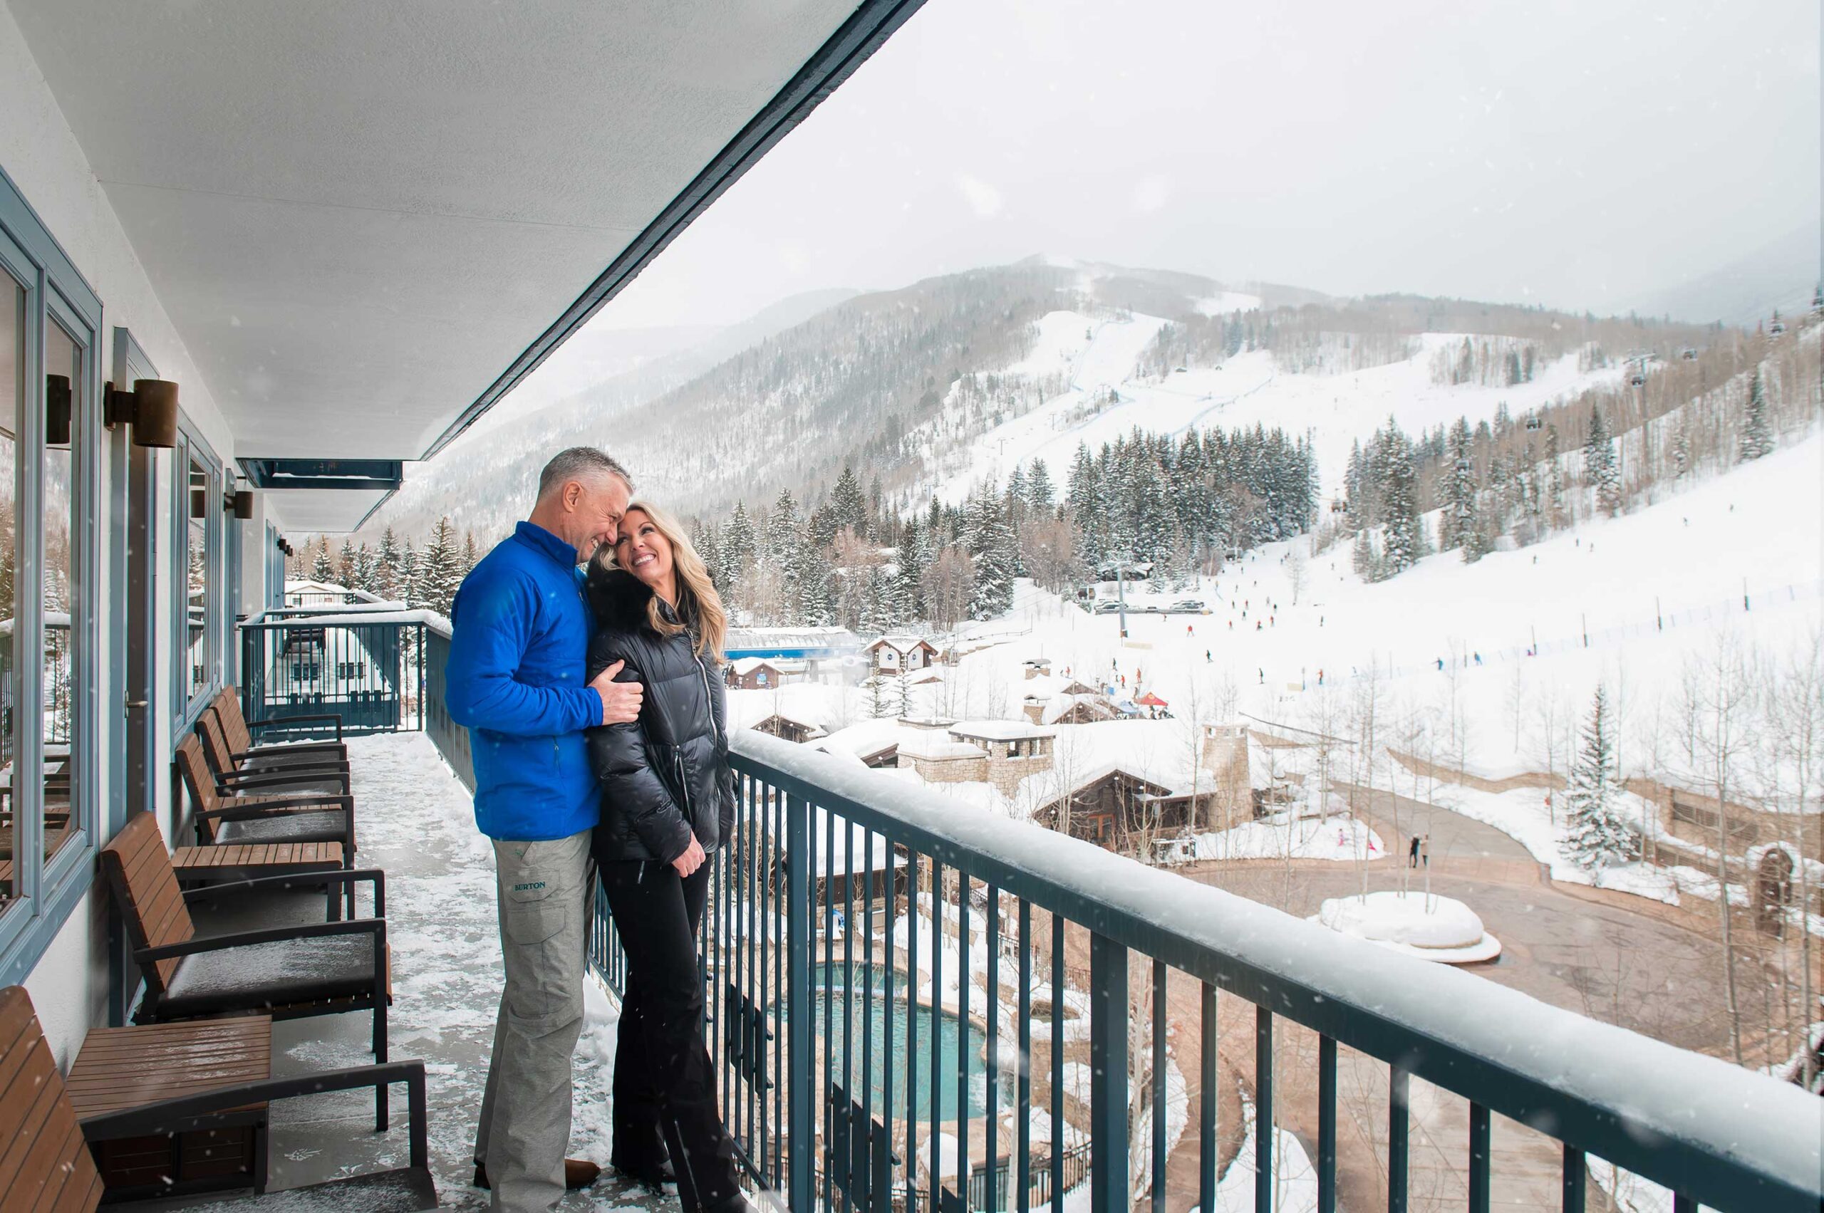
{"type": "MultiPolygon", "coordinates": [[[[863,1091],[863,1031],[868,1032],[868,1087],[874,1091],[874,1115],[883,1118],[886,1111],[886,1069],[892,1067],[894,1076],[894,1104],[892,1116],[896,1120],[905,1120],[907,1116],[907,981],[903,972],[894,974],[894,1007],[892,1007],[892,1038],[886,1032],[886,998],[881,992],[885,981],[885,970],[874,969],[872,972],[872,994],[868,992],[868,965],[854,967],[854,985],[848,987],[848,1014],[854,1025],[855,1040],[848,1054],[848,1073],[850,1073],[850,1094],[857,1104],[865,1104],[861,1098],[863,1091]]],[[[812,972],[812,996],[815,1000],[817,1023],[814,1031],[817,1032],[817,1052],[828,1058],[828,1073],[834,1082],[843,1082],[843,983],[850,980],[841,965],[835,965],[828,972],[823,965],[812,972]],[[830,1014],[830,1040],[828,1052],[824,1052],[824,1012],[830,1014]]],[[[917,1098],[912,1104],[912,1113],[919,1120],[930,1120],[930,1052],[932,1052],[932,1018],[930,1007],[919,1005],[914,1012],[917,1020],[917,1054],[912,1060],[912,1073],[917,1083],[917,1098]]],[[[981,1116],[987,1111],[987,1065],[983,1063],[983,1045],[987,1038],[974,1025],[965,1025],[958,1021],[956,1014],[943,1011],[936,1014],[938,1027],[938,1058],[939,1058],[939,1091],[938,1091],[938,1120],[956,1120],[956,1067],[958,1052],[967,1058],[969,1063],[969,1115],[981,1116]]]]}

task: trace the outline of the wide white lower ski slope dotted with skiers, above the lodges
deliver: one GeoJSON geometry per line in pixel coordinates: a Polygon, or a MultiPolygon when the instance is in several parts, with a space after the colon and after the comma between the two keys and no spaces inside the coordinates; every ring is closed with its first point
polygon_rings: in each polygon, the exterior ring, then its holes
{"type": "MultiPolygon", "coordinates": [[[[1687,658],[1724,635],[1778,658],[1824,627],[1820,469],[1824,434],[1811,434],[1636,513],[1474,565],[1434,555],[1379,584],[1350,569],[1346,549],[1306,556],[1308,538],[1273,544],[1197,591],[1129,586],[1129,604],[1195,595],[1211,613],[1135,613],[1125,640],[1118,617],[1021,584],[1012,617],[974,626],[998,642],[948,675],[947,711],[1005,715],[996,697],[1027,658],[1045,657],[1078,677],[1118,671],[1125,693],[1151,689],[1178,719],[1197,708],[1211,721],[1233,697],[1260,721],[1313,728],[1324,700],[1339,711],[1372,668],[1388,744],[1401,744],[1401,730],[1430,730],[1450,746],[1441,761],[1499,775],[1543,770],[1541,710],[1556,704],[1556,728],[1570,730],[1603,682],[1622,719],[1623,770],[1638,770],[1654,702],[1674,697],[1687,658]],[[1297,604],[1293,549],[1306,558],[1297,604]]],[[[1563,735],[1558,744],[1563,770],[1563,735]]]]}

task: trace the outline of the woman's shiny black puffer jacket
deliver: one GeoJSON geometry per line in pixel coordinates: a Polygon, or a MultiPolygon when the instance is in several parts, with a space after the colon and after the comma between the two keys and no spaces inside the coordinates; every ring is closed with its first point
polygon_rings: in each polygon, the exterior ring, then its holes
{"type": "Polygon", "coordinates": [[[735,828],[722,677],[713,657],[697,657],[688,631],[660,637],[648,626],[651,596],[631,573],[591,562],[589,679],[622,660],[615,680],[646,686],[637,722],[589,730],[589,762],[602,781],[598,863],[671,863],[689,846],[689,832],[715,850],[735,828]]]}

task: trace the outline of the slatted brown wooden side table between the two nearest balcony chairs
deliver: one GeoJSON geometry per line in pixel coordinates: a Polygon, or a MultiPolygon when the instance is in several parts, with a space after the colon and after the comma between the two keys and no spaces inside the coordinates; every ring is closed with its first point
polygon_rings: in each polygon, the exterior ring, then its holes
{"type": "MultiPolygon", "coordinates": [[[[98,1027],[69,1067],[77,1120],[272,1078],[272,1018],[98,1027]]],[[[195,1127],[89,1138],[108,1198],[217,1187],[266,1189],[266,1102],[201,1118],[195,1127]]]]}

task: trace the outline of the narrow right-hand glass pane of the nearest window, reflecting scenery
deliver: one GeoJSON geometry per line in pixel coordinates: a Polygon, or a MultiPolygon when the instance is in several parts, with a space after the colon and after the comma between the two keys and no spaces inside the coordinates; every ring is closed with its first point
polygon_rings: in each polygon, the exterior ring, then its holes
{"type": "Polygon", "coordinates": [[[71,542],[71,492],[75,469],[71,463],[71,436],[78,423],[84,399],[84,350],[55,321],[44,327],[46,367],[46,443],[40,465],[44,492],[44,854],[69,837],[75,824],[71,783],[75,764],[71,748],[75,682],[75,629],[71,627],[77,596],[77,564],[71,542]],[[60,383],[64,379],[66,383],[60,383]]]}

